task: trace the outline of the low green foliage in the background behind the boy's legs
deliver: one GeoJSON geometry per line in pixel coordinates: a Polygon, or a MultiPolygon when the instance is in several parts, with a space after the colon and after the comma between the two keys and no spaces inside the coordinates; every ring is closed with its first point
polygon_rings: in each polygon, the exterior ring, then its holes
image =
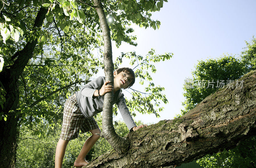
{"type": "MultiPolygon", "coordinates": [[[[101,115],[95,117],[98,125],[102,128],[101,125],[101,115]]],[[[136,124],[141,124],[141,122],[136,122],[136,124]]],[[[114,124],[117,134],[121,137],[124,137],[129,132],[123,121],[117,121],[114,124]]],[[[61,126],[55,125],[52,130],[48,124],[40,124],[38,127],[41,127],[45,132],[45,137],[35,134],[27,126],[20,127],[20,136],[17,148],[17,162],[16,167],[53,167],[54,166],[54,157],[55,157],[55,148],[59,140],[59,135],[61,131],[61,126]]],[[[79,137],[75,140],[71,140],[66,149],[66,154],[63,160],[63,168],[70,168],[74,165],[74,162],[84,145],[86,138],[91,136],[90,132],[80,134],[79,137]]],[[[91,161],[96,157],[104,154],[111,149],[111,146],[108,144],[107,140],[100,138],[90,152],[86,155],[86,160],[91,161]]]]}

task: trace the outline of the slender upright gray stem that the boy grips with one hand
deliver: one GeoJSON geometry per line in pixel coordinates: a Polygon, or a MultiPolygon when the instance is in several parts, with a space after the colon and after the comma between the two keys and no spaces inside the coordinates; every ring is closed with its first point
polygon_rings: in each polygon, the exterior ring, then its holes
{"type": "MultiPolygon", "coordinates": [[[[110,29],[107,18],[103,10],[100,0],[93,0],[94,6],[100,18],[100,28],[103,33],[104,40],[104,71],[106,81],[111,81],[110,85],[114,85],[114,64],[112,60],[112,46],[110,38],[110,29]]],[[[126,152],[129,147],[129,141],[123,139],[116,134],[113,126],[113,92],[108,92],[104,95],[103,112],[102,112],[102,132],[101,137],[104,137],[108,143],[119,153],[126,152]]]]}

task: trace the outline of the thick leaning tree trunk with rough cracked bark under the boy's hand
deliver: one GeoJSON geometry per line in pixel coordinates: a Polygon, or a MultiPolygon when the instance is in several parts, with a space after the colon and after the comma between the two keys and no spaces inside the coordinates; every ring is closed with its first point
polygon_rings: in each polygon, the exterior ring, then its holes
{"type": "Polygon", "coordinates": [[[86,167],[175,167],[235,148],[256,131],[256,71],[219,89],[180,118],[162,120],[127,135],[125,154],[110,150],[86,167]],[[240,83],[241,84],[241,83],[240,83]]]}

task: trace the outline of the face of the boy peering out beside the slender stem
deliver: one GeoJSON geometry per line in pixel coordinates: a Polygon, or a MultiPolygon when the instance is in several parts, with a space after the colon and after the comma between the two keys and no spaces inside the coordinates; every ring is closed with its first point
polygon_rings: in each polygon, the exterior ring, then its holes
{"type": "Polygon", "coordinates": [[[120,89],[126,89],[128,88],[129,84],[132,82],[132,76],[127,74],[126,72],[120,72],[117,74],[117,72],[114,72],[114,86],[120,88],[120,89]]]}

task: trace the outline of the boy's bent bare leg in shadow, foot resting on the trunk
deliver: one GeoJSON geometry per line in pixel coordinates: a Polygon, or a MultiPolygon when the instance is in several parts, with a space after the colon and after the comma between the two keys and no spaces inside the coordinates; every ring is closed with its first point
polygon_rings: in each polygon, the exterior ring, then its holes
{"type": "Polygon", "coordinates": [[[95,133],[100,133],[100,129],[97,128],[95,130],[91,130],[90,131],[92,133],[92,136],[90,136],[85,142],[84,142],[84,146],[80,152],[80,154],[78,155],[74,166],[76,167],[83,167],[87,164],[89,164],[88,162],[85,161],[85,156],[87,155],[87,153],[91,150],[91,148],[93,147],[93,145],[97,142],[97,140],[100,138],[100,135],[95,135],[95,133]]]}

